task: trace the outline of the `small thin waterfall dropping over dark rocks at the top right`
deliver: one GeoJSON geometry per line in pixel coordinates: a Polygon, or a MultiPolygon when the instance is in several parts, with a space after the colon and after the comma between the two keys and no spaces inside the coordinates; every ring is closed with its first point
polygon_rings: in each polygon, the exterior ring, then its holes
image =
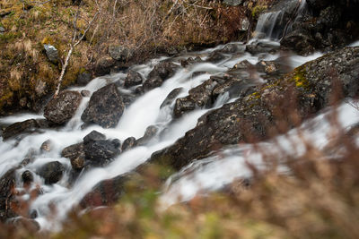
{"type": "Polygon", "coordinates": [[[259,16],[255,30],[256,38],[282,38],[293,23],[304,13],[306,0],[284,1],[280,9],[259,16]]]}

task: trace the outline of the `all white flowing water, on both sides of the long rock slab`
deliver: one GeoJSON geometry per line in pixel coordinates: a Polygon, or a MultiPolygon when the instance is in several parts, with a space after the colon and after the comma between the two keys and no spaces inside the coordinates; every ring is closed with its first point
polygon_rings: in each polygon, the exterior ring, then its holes
{"type": "MultiPolygon", "coordinates": [[[[279,17],[273,16],[273,18],[279,17]]],[[[269,19],[269,16],[263,16],[269,19]]],[[[272,30],[269,30],[269,34],[272,30]]],[[[67,213],[73,209],[83,196],[91,192],[93,186],[99,184],[102,180],[113,178],[117,175],[123,175],[130,172],[136,166],[143,164],[153,152],[170,146],[180,137],[184,136],[185,132],[194,128],[197,124],[197,119],[204,115],[210,109],[197,109],[183,115],[179,120],[172,121],[172,111],[174,102],[170,106],[160,108],[162,101],[167,95],[176,88],[183,88],[182,92],[177,98],[188,95],[188,90],[196,87],[202,82],[209,79],[213,75],[223,75],[234,64],[242,60],[248,60],[251,64],[257,64],[260,60],[276,60],[280,55],[278,54],[260,54],[250,55],[243,52],[245,47],[241,42],[234,44],[237,52],[232,54],[225,54],[224,59],[216,64],[206,62],[206,59],[215,50],[220,50],[226,46],[218,46],[215,48],[206,49],[201,52],[189,53],[172,58],[158,58],[153,59],[147,64],[134,65],[132,70],[141,73],[144,78],[151,72],[153,66],[161,61],[171,61],[180,66],[180,61],[188,57],[200,56],[204,62],[193,64],[188,68],[180,67],[179,70],[167,81],[164,81],[161,87],[146,92],[143,96],[136,98],[129,107],[126,108],[122,115],[118,126],[112,129],[103,129],[100,126],[92,125],[82,130],[81,115],[84,108],[88,104],[89,98],[83,98],[81,106],[78,108],[76,114],[66,126],[59,129],[48,129],[43,132],[32,133],[26,135],[21,141],[15,139],[3,141],[0,143],[0,176],[4,173],[18,166],[23,158],[35,158],[29,165],[23,166],[16,171],[17,175],[17,190],[23,192],[22,200],[30,203],[31,210],[36,210],[38,217],[35,218],[44,230],[59,230],[61,222],[66,219],[67,213]],[[124,141],[127,137],[136,137],[137,139],[144,135],[145,129],[155,125],[159,128],[157,135],[144,146],[129,149],[115,158],[108,166],[93,168],[74,182],[69,184],[70,177],[70,161],[68,158],[61,157],[61,150],[69,145],[83,141],[83,137],[92,130],[104,133],[107,138],[117,138],[124,141]],[[51,141],[51,149],[49,151],[39,150],[44,141],[51,141]],[[59,161],[66,166],[66,174],[57,184],[46,185],[44,179],[36,175],[39,167],[51,161],[59,161]],[[20,177],[22,172],[30,170],[34,178],[34,184],[31,189],[24,189],[20,177]],[[42,194],[36,199],[31,199],[30,192],[32,189],[39,187],[42,194]],[[55,212],[54,212],[55,211],[55,212]]],[[[274,44],[277,44],[274,42],[274,44]]],[[[309,55],[302,57],[292,55],[289,57],[290,66],[296,67],[307,61],[319,57],[320,54],[309,55]]],[[[114,73],[92,80],[85,87],[76,87],[72,90],[90,90],[94,92],[109,82],[123,81],[126,78],[125,72],[114,73]]],[[[119,87],[122,94],[132,94],[133,89],[126,90],[119,87]]],[[[228,94],[223,94],[214,104],[215,107],[222,107],[223,104],[234,100],[228,94]]],[[[357,111],[353,107],[344,104],[340,107],[341,122],[344,127],[356,123],[358,118],[357,111]]],[[[316,139],[316,143],[323,147],[328,142],[328,137],[325,132],[325,124],[323,118],[327,113],[323,113],[317,118],[311,120],[311,123],[303,124],[302,131],[308,134],[311,139],[316,139]],[[320,123],[319,123],[320,122],[320,123]],[[311,125],[311,126],[308,126],[311,125]],[[312,125],[315,125],[312,126],[312,125]]],[[[0,119],[0,124],[13,124],[31,118],[42,118],[42,115],[21,114],[11,115],[0,119]]],[[[280,136],[277,141],[285,147],[285,149],[301,154],[302,148],[300,143],[298,147],[293,149],[289,139],[294,140],[299,129],[288,132],[285,136],[280,136]],[[292,148],[291,148],[292,147],[292,148]]],[[[266,149],[273,149],[273,141],[267,141],[260,144],[260,147],[266,149]]],[[[250,170],[246,167],[246,160],[257,166],[263,165],[261,162],[261,155],[256,151],[252,145],[241,145],[228,149],[223,149],[221,155],[206,158],[201,161],[192,163],[183,168],[179,173],[172,175],[168,182],[164,185],[162,192],[163,205],[169,206],[178,201],[187,201],[198,192],[216,190],[223,185],[230,183],[236,177],[250,176],[250,170]]],[[[285,168],[283,168],[285,170],[285,168]]]]}

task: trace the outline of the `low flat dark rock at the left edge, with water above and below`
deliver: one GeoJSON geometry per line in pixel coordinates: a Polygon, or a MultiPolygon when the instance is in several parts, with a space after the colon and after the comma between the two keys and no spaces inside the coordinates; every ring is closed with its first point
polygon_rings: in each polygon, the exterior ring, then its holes
{"type": "Polygon", "coordinates": [[[18,122],[7,126],[3,132],[3,139],[8,140],[12,137],[18,136],[22,133],[31,133],[39,130],[39,124],[37,120],[30,119],[23,122],[18,122]]]}

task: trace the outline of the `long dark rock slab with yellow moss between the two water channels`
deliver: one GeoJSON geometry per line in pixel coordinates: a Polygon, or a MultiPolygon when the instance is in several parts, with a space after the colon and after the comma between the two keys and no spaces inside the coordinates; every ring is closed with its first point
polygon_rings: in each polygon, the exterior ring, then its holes
{"type": "MultiPolygon", "coordinates": [[[[235,102],[200,117],[194,129],[153,153],[151,161],[180,169],[224,145],[265,140],[276,117],[283,118],[281,110],[296,107],[304,119],[328,107],[333,85],[339,86],[340,98],[359,95],[359,47],[324,55],[283,78],[248,88],[235,102]]],[[[286,120],[289,130],[294,125],[286,120]]]]}

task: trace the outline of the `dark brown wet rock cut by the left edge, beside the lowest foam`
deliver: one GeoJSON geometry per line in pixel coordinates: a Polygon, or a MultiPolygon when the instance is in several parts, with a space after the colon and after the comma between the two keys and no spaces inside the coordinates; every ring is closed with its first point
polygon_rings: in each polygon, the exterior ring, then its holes
{"type": "Polygon", "coordinates": [[[12,207],[15,201],[15,186],[15,173],[14,169],[11,169],[0,178],[0,221],[3,223],[6,219],[17,216],[12,207]]]}

